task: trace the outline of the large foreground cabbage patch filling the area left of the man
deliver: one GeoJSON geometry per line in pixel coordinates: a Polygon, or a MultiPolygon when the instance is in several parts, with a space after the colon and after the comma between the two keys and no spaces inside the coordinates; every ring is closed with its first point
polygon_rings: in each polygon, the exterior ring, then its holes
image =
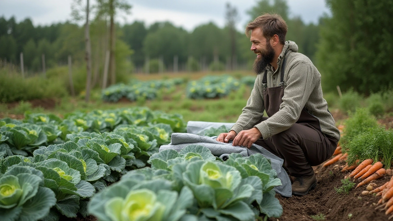
{"type": "Polygon", "coordinates": [[[158,153],[173,131],[184,131],[178,115],[95,110],[64,119],[26,114],[23,122],[0,125],[2,221],[89,214],[112,221],[251,221],[282,213],[272,190],[281,181],[262,155],[221,162],[200,145],[158,153]]]}

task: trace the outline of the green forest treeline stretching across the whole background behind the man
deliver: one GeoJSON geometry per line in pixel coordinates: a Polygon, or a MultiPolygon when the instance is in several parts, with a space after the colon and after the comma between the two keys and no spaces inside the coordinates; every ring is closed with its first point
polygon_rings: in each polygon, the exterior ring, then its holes
{"type": "MultiPolygon", "coordinates": [[[[100,1],[99,1],[100,2],[100,1]]],[[[102,0],[101,0],[102,2],[102,0]]],[[[279,13],[288,24],[286,40],[294,41],[320,70],[323,87],[335,90],[354,88],[368,94],[393,82],[393,1],[326,0],[331,15],[318,24],[305,24],[301,17],[290,17],[286,0],[260,0],[247,11],[249,20],[265,12],[279,13]]],[[[141,21],[116,24],[116,74],[158,71],[198,71],[248,69],[255,59],[250,40],[234,29],[237,9],[227,4],[226,26],[214,22],[192,31],[170,22],[147,26],[141,21]],[[149,66],[147,67],[147,61],[149,66]],[[178,65],[178,67],[174,67],[178,65]]],[[[131,8],[132,13],[132,8],[131,8]]],[[[109,19],[103,13],[90,16],[92,72],[103,72],[105,52],[109,50],[109,19]]],[[[245,24],[244,24],[245,26],[245,24]]],[[[0,18],[0,59],[15,66],[23,52],[28,74],[67,64],[84,65],[84,27],[75,20],[34,26],[30,18],[0,18]]],[[[114,83],[114,82],[111,82],[114,83]]]]}

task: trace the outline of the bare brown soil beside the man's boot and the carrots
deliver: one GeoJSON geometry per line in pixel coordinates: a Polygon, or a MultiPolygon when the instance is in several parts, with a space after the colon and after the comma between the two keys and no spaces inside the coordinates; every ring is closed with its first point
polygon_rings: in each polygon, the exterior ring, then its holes
{"type": "MultiPolygon", "coordinates": [[[[375,210],[380,197],[362,195],[365,186],[352,189],[349,194],[336,193],[334,188],[342,186],[341,179],[345,174],[341,172],[342,165],[331,165],[323,168],[321,165],[313,167],[317,177],[317,186],[305,196],[282,197],[277,194],[283,206],[283,215],[270,218],[269,221],[384,221],[389,215],[385,211],[375,210]],[[325,219],[312,219],[314,215],[325,215],[325,219]],[[349,214],[352,214],[349,215],[349,214]],[[351,217],[349,217],[351,216],[351,217]]],[[[384,184],[390,177],[375,180],[378,186],[384,184]]]]}

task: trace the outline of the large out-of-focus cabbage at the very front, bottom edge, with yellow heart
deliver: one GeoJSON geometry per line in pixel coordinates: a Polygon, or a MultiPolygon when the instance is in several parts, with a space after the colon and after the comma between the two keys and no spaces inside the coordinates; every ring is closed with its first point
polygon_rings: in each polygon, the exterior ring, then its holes
{"type": "Polygon", "coordinates": [[[190,216],[186,212],[193,199],[188,187],[178,193],[168,180],[135,175],[94,195],[88,212],[103,221],[178,221],[190,216]]]}

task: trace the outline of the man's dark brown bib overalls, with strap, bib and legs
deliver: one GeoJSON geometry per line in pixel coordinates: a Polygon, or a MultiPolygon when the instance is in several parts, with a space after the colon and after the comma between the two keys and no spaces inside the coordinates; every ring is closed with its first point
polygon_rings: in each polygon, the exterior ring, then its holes
{"type": "MultiPolygon", "coordinates": [[[[278,112],[281,103],[283,103],[285,63],[284,57],[278,87],[268,88],[267,70],[263,75],[263,102],[268,117],[278,112]]],[[[260,122],[267,119],[263,117],[260,122]]],[[[337,147],[337,142],[337,139],[321,132],[318,118],[303,107],[298,121],[291,128],[266,140],[257,140],[255,144],[261,145],[277,157],[283,158],[284,165],[290,175],[309,177],[314,174],[311,166],[317,166],[330,158],[337,147]]]]}

